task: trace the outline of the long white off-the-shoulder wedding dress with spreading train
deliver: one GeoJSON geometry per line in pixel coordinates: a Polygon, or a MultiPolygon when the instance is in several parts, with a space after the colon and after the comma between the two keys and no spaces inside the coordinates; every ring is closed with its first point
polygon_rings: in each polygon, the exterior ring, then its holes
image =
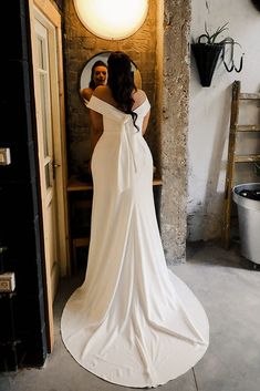
{"type": "MultiPolygon", "coordinates": [[[[153,160],[125,114],[92,96],[104,132],[92,157],[86,277],[61,320],[74,359],[110,382],[153,388],[188,371],[208,347],[208,319],[166,266],[153,197],[153,160]]],[[[142,130],[149,102],[135,110],[142,130]]]]}

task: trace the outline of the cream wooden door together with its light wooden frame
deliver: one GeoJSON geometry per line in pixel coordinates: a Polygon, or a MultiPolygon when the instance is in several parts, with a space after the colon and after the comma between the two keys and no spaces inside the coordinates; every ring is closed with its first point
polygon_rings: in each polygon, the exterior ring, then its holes
{"type": "Polygon", "coordinates": [[[30,17],[44,236],[46,323],[51,351],[54,343],[53,300],[60,272],[66,274],[64,269],[69,258],[66,162],[62,120],[64,102],[61,102],[63,85],[59,76],[62,71],[58,42],[60,39],[61,43],[61,29],[58,29],[60,16],[48,1],[40,1],[39,6],[43,10],[30,3],[30,17]]]}

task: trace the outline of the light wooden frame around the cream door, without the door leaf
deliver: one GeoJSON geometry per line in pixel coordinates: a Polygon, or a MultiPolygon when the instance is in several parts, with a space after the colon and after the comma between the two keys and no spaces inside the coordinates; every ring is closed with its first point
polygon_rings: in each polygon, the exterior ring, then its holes
{"type": "MultiPolygon", "coordinates": [[[[34,84],[34,99],[35,99],[35,112],[37,112],[37,127],[39,128],[39,115],[38,107],[40,107],[39,100],[39,86],[37,73],[34,72],[34,64],[37,64],[37,42],[35,42],[35,11],[42,14],[48,22],[50,22],[55,28],[56,35],[56,66],[58,72],[54,75],[58,83],[53,86],[56,89],[54,91],[55,96],[59,100],[53,100],[52,105],[59,116],[53,116],[53,123],[55,126],[54,137],[53,137],[53,148],[55,156],[55,164],[59,168],[55,171],[56,174],[56,224],[58,224],[58,253],[60,258],[60,274],[61,277],[66,276],[70,272],[70,244],[69,244],[69,219],[67,219],[67,169],[66,169],[66,136],[65,136],[65,109],[64,109],[64,78],[63,78],[63,61],[62,61],[62,31],[61,31],[61,14],[50,2],[50,0],[29,0],[29,12],[30,12],[30,24],[31,24],[31,45],[32,45],[32,64],[33,64],[33,84],[34,84]]],[[[39,173],[40,175],[40,173],[39,173]]],[[[44,222],[43,215],[43,226],[46,224],[44,222]]],[[[48,265],[44,265],[45,270],[48,265]]],[[[49,350],[52,351],[54,344],[54,330],[53,330],[53,308],[52,298],[50,297],[50,284],[51,281],[46,278],[46,272],[44,274],[44,285],[45,285],[45,302],[46,302],[46,325],[48,325],[48,337],[49,337],[49,350]]]]}

